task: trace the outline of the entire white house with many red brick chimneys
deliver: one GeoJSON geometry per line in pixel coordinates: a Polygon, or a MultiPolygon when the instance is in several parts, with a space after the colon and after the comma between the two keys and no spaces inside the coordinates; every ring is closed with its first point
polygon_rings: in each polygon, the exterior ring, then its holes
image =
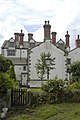
{"type": "MultiPolygon", "coordinates": [[[[28,33],[28,41],[24,41],[24,33],[14,33],[14,38],[5,40],[1,53],[10,58],[15,66],[16,79],[22,86],[40,87],[41,80],[38,78],[35,64],[40,59],[41,53],[51,53],[51,58],[55,58],[54,69],[49,71],[49,79],[58,77],[61,79],[69,79],[67,73],[67,64],[75,60],[80,60],[80,40],[79,36],[76,40],[77,47],[70,51],[70,35],[68,31],[64,40],[56,41],[56,32],[51,32],[49,21],[45,21],[43,26],[44,38],[43,42],[36,42],[33,34],[28,33]],[[68,54],[67,54],[68,53],[68,54]]],[[[47,74],[44,75],[43,83],[47,81],[47,74]]]]}

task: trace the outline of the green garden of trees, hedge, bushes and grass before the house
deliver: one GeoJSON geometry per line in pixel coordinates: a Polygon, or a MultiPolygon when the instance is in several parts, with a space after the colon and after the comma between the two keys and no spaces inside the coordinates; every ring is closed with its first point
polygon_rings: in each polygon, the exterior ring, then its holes
{"type": "MultiPolygon", "coordinates": [[[[7,120],[79,120],[80,61],[71,64],[68,70],[72,74],[71,81],[55,77],[48,80],[46,84],[42,84],[40,88],[27,88],[25,91],[23,91],[25,88],[20,88],[17,84],[13,63],[2,56],[0,56],[0,63],[0,113],[3,118],[7,120]],[[11,94],[12,90],[17,91],[13,93],[14,97],[11,94]],[[13,106],[11,106],[12,100],[14,100],[13,106]],[[7,108],[6,112],[3,108],[7,108]]],[[[43,79],[42,72],[41,79],[43,79]]]]}

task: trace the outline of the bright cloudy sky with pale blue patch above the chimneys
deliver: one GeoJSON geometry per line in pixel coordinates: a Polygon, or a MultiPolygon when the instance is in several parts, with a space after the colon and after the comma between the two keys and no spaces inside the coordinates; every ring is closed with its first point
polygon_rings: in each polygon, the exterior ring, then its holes
{"type": "Polygon", "coordinates": [[[22,29],[27,40],[33,33],[36,41],[43,41],[43,25],[50,21],[51,31],[57,32],[57,41],[65,41],[70,34],[70,45],[80,34],[80,0],[0,0],[0,47],[22,29]]]}

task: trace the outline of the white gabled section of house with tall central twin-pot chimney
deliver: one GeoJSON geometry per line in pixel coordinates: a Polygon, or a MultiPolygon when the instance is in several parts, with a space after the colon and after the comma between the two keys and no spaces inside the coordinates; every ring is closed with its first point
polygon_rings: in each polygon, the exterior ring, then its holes
{"type": "MultiPolygon", "coordinates": [[[[61,48],[60,44],[64,44],[63,41],[59,41],[56,43],[56,32],[52,32],[51,34],[51,25],[49,21],[45,21],[44,27],[44,42],[35,46],[31,49],[31,53],[29,55],[30,65],[29,65],[29,85],[40,87],[41,80],[38,78],[35,65],[37,60],[40,59],[41,53],[51,53],[51,58],[55,58],[55,66],[53,70],[49,71],[49,79],[53,79],[54,77],[59,77],[62,79],[66,79],[66,57],[63,48],[61,48]]],[[[65,45],[63,45],[65,46],[65,45]]],[[[62,46],[62,47],[63,47],[62,46]]],[[[45,74],[45,78],[43,83],[47,81],[47,74],[45,74]]]]}

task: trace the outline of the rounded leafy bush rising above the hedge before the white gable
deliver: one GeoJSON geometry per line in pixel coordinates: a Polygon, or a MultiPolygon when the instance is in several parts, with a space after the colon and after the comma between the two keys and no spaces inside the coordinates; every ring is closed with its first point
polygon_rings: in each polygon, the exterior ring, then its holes
{"type": "Polygon", "coordinates": [[[59,103],[62,101],[64,85],[65,82],[62,79],[58,79],[56,77],[53,80],[48,80],[47,83],[42,86],[42,90],[48,94],[48,101],[50,103],[59,103]]]}

